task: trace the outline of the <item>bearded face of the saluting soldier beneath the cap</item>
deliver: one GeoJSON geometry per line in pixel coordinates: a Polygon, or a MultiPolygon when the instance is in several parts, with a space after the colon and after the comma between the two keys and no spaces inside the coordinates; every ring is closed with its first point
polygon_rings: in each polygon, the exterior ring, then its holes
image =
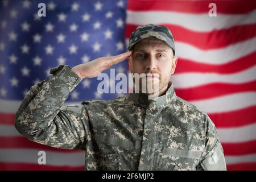
{"type": "MultiPolygon", "coordinates": [[[[154,93],[159,96],[166,91],[171,75],[174,73],[177,57],[174,57],[172,48],[162,40],[146,38],[135,44],[133,53],[128,59],[131,73],[157,73],[158,77],[147,77],[154,86],[154,93]],[[157,88],[157,89],[156,89],[157,88]]],[[[141,82],[140,82],[141,85],[141,82]]]]}

